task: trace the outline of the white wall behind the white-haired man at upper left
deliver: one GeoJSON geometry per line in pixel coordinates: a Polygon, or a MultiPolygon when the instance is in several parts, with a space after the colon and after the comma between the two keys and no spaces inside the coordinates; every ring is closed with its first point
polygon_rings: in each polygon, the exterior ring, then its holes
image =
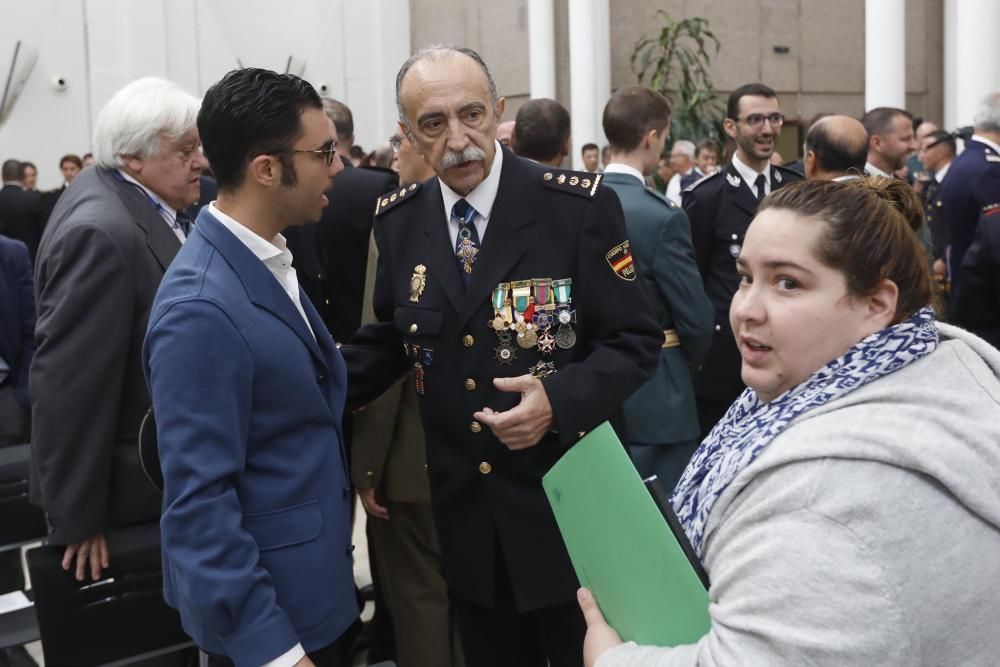
{"type": "MultiPolygon", "coordinates": [[[[0,0],[4,5],[7,0],[0,0]]],[[[35,0],[10,3],[0,38],[38,61],[0,126],[0,160],[38,165],[39,188],[61,184],[59,158],[90,150],[101,107],[129,81],[172,79],[197,95],[237,66],[290,71],[354,112],[366,150],[395,126],[394,79],[410,53],[406,0],[35,0]],[[63,77],[64,92],[51,82],[63,77]]]]}

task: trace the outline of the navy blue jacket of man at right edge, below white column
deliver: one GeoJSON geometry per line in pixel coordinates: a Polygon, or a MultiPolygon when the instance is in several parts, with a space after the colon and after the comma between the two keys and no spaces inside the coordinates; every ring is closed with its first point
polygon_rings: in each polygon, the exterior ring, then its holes
{"type": "Polygon", "coordinates": [[[1000,155],[986,144],[971,140],[954,159],[948,176],[938,188],[943,219],[951,244],[951,299],[962,289],[962,261],[976,234],[982,210],[1000,201],[1000,155]]]}

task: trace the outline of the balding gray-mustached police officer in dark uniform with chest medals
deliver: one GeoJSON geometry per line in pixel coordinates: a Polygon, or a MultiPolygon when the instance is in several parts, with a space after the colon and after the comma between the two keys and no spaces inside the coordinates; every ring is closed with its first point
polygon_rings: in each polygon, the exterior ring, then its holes
{"type": "Polygon", "coordinates": [[[420,51],[396,86],[401,129],[438,178],[378,202],[383,323],[345,347],[351,379],[378,374],[358,373],[373,339],[388,350],[402,336],[466,662],[578,667],[579,583],[541,476],[614,421],[651,377],[663,332],[617,197],[599,174],[500,148],[504,100],[478,54],[420,51]]]}

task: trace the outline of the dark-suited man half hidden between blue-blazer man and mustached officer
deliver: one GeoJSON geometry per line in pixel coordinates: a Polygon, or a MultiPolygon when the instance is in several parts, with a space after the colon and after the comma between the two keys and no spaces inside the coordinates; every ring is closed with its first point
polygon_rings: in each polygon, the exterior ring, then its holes
{"type": "Polygon", "coordinates": [[[337,132],[337,155],[344,171],[326,193],[330,205],[319,223],[292,231],[290,248],[306,294],[333,339],[346,342],[361,326],[361,302],[368,262],[368,239],[378,196],[396,187],[395,174],[351,166],[354,117],[347,105],[324,99],[323,110],[337,132]],[[311,247],[310,247],[311,246],[311,247]],[[305,275],[303,275],[305,274],[305,275]]]}

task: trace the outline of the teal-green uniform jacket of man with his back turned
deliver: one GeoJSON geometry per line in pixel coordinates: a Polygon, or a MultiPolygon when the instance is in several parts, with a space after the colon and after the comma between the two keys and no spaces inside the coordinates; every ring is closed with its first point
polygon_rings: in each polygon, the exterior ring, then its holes
{"type": "Polygon", "coordinates": [[[635,445],[686,442],[698,437],[692,371],[712,343],[712,302],[698,273],[691,223],[684,210],[628,174],[605,173],[618,194],[639,280],[653,316],[674,329],[680,346],[660,351],[656,375],[625,401],[625,426],[635,445]]]}

